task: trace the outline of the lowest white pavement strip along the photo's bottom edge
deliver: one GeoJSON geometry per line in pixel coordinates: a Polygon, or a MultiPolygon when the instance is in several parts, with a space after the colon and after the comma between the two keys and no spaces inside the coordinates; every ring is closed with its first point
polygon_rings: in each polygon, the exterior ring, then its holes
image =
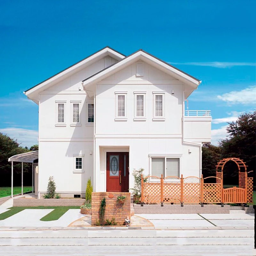
{"type": "Polygon", "coordinates": [[[1,248],[1,256],[45,256],[45,255],[161,255],[161,256],[252,256],[255,250],[250,245],[158,245],[158,246],[14,246],[10,250],[9,246],[1,248]]]}

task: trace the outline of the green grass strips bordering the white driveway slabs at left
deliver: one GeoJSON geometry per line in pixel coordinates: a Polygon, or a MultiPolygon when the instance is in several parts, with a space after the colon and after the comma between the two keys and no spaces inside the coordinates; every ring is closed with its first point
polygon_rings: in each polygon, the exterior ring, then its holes
{"type": "Polygon", "coordinates": [[[42,221],[51,221],[58,220],[65,212],[69,209],[80,209],[80,206],[34,206],[34,207],[10,207],[7,212],[3,212],[0,214],[0,220],[5,220],[12,215],[21,212],[25,209],[54,209],[52,212],[45,215],[40,220],[42,221]]]}

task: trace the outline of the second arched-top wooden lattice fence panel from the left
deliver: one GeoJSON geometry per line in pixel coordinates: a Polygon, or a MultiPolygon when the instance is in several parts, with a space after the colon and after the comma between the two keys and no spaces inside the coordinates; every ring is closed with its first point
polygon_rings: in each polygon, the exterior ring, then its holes
{"type": "Polygon", "coordinates": [[[180,203],[181,183],[179,177],[166,177],[163,182],[163,202],[180,203]]]}

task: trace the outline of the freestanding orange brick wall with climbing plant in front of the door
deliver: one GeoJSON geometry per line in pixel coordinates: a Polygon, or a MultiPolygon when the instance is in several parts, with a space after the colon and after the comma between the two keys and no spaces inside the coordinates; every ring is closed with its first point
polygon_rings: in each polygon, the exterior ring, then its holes
{"type": "Polygon", "coordinates": [[[131,194],[127,192],[92,192],[92,225],[100,220],[100,204],[104,197],[106,198],[104,221],[115,218],[117,225],[124,225],[124,219],[127,216],[131,218],[131,194]],[[126,196],[124,204],[117,202],[117,196],[126,196]]]}

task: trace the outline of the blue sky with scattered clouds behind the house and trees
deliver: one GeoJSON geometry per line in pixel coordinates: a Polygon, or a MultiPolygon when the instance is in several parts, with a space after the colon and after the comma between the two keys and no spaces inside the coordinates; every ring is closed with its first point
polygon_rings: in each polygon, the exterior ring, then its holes
{"type": "Polygon", "coordinates": [[[23,91],[106,45],[143,49],[202,80],[189,109],[212,110],[212,143],[255,109],[256,1],[0,1],[0,132],[37,144],[23,91]]]}

